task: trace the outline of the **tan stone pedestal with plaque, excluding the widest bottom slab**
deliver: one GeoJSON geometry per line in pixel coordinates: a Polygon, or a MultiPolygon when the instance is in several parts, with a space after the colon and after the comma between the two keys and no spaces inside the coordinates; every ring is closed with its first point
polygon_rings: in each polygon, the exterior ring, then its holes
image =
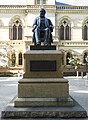
{"type": "Polygon", "coordinates": [[[18,84],[16,107],[73,106],[61,58],[56,50],[30,50],[24,54],[25,74],[18,84]]]}

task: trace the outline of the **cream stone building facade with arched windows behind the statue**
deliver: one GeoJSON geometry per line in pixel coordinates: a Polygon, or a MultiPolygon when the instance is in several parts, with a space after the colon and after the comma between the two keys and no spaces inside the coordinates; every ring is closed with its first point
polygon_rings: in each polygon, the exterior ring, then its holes
{"type": "Polygon", "coordinates": [[[85,63],[88,56],[88,6],[55,0],[21,0],[0,3],[0,67],[23,71],[23,54],[33,44],[32,25],[42,7],[54,25],[53,44],[62,52],[63,66],[69,65],[68,58],[72,56],[85,63]]]}

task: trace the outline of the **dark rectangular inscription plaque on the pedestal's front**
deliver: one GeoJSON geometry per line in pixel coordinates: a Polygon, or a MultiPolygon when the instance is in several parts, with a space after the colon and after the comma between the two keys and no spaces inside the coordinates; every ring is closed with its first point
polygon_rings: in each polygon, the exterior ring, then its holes
{"type": "Polygon", "coordinates": [[[56,71],[55,60],[31,60],[30,71],[56,71]]]}

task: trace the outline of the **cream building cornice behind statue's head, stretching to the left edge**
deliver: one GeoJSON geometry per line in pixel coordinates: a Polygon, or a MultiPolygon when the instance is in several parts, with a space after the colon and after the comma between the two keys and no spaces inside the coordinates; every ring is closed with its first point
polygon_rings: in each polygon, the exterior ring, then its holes
{"type": "Polygon", "coordinates": [[[0,5],[0,13],[23,13],[39,11],[40,8],[45,8],[48,12],[56,12],[55,5],[0,5]]]}

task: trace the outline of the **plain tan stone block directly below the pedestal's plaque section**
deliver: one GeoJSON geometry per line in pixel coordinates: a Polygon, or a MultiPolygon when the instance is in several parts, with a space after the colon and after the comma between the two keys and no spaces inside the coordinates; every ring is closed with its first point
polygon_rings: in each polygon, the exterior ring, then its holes
{"type": "Polygon", "coordinates": [[[68,97],[68,80],[64,78],[23,78],[18,83],[18,98],[68,97]]]}

